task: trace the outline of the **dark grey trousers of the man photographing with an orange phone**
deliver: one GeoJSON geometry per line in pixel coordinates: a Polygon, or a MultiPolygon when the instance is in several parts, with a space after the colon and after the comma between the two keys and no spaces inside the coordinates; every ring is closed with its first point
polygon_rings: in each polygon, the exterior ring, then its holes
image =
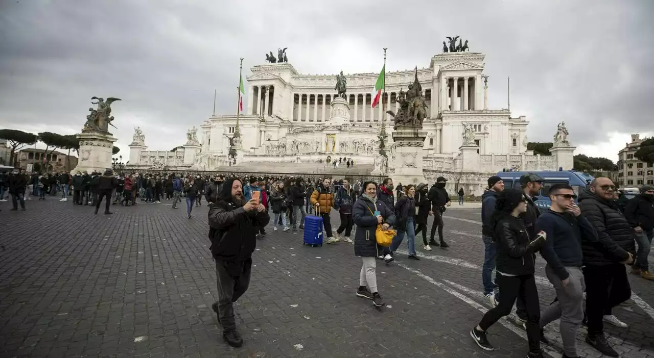
{"type": "Polygon", "coordinates": [[[233,302],[236,302],[250,285],[252,258],[241,263],[216,260],[216,284],[218,286],[218,320],[223,333],[234,331],[233,302]]]}

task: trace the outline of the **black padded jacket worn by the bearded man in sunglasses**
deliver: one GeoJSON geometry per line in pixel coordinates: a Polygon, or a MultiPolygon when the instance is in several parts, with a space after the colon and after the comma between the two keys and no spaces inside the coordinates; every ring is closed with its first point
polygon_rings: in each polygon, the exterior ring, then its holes
{"type": "Polygon", "coordinates": [[[629,258],[627,252],[635,252],[636,232],[615,201],[601,199],[584,188],[579,194],[579,208],[599,238],[598,242],[581,242],[584,265],[619,263],[629,258]]]}

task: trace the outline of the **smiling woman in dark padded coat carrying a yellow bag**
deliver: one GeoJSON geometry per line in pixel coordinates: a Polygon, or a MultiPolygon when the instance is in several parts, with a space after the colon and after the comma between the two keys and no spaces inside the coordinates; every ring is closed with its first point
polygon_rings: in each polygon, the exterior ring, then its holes
{"type": "Polygon", "coordinates": [[[383,252],[377,245],[377,225],[381,224],[387,230],[395,223],[395,215],[386,204],[377,200],[377,184],[365,182],[364,191],[352,207],[352,220],[356,224],[354,234],[354,255],[361,257],[359,287],[356,290],[358,297],[373,300],[375,306],[383,306],[379,292],[377,292],[377,257],[383,252]]]}

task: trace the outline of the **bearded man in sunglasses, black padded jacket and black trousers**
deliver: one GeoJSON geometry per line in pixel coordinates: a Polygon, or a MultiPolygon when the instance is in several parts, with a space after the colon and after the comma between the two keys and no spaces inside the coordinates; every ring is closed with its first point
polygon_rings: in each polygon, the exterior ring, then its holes
{"type": "Polygon", "coordinates": [[[636,233],[614,200],[616,187],[609,178],[598,177],[579,195],[581,214],[595,227],[600,244],[582,242],[583,278],[586,283],[586,342],[610,357],[618,354],[604,337],[604,322],[627,327],[611,314],[611,308],[631,297],[625,263],[634,262],[636,233]]]}

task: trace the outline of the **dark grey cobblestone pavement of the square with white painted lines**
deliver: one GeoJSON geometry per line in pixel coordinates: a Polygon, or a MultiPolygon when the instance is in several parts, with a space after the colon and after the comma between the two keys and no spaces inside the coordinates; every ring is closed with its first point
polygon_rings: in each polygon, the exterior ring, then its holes
{"type": "MultiPolygon", "coordinates": [[[[301,232],[258,241],[252,284],[235,308],[243,348],[222,342],[211,303],[215,266],[207,207],[113,206],[112,216],[56,199],[27,211],[0,203],[0,357],[525,357],[515,317],[489,330],[495,351],[468,335],[489,303],[481,295],[479,209],[448,210],[447,250],[378,263],[374,308],[354,295],[361,261],[352,244],[302,245],[301,232]]],[[[334,229],[338,223],[332,214],[334,229]]],[[[402,250],[406,250],[405,244],[402,250]]],[[[541,307],[554,290],[538,260],[541,307]]],[[[623,357],[654,357],[654,289],[630,275],[634,295],[606,327],[623,357]]],[[[544,346],[560,357],[558,327],[544,346]]],[[[583,331],[583,329],[582,329],[583,331]]],[[[584,357],[599,354],[583,342],[584,357]]]]}

